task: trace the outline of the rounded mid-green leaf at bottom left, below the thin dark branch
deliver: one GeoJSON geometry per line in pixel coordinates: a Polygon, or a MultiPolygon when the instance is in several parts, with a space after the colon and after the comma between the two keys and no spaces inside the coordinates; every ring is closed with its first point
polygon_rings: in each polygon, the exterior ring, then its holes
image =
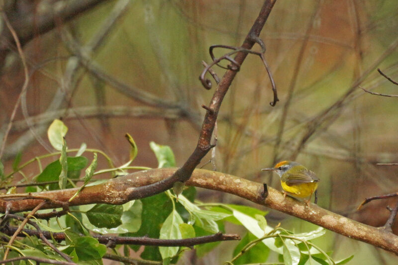
{"type": "Polygon", "coordinates": [[[101,259],[106,253],[106,247],[97,239],[84,236],[72,241],[71,246],[76,250],[79,261],[92,261],[101,259]]]}

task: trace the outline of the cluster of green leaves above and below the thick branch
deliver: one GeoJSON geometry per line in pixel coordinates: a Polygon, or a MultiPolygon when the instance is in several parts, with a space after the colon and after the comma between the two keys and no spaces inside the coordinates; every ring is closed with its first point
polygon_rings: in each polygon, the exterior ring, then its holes
{"type": "MultiPolygon", "coordinates": [[[[130,161],[121,167],[114,167],[108,157],[99,150],[87,149],[83,144],[79,150],[68,150],[64,136],[67,127],[60,120],[55,120],[48,130],[50,143],[59,150],[55,154],[59,159],[48,164],[44,170],[33,178],[35,181],[26,191],[54,190],[76,186],[75,180],[84,184],[76,192],[86,185],[93,185],[99,181],[92,180],[98,174],[112,173],[111,177],[126,174],[128,169],[148,169],[144,167],[131,167],[130,164],[137,155],[137,146],[134,140],[127,134],[126,138],[131,145],[130,161]],[[67,154],[76,152],[75,157],[67,154]],[[88,159],[82,156],[84,153],[94,153],[92,163],[88,165],[88,159]],[[97,153],[103,155],[109,164],[109,169],[96,171],[97,153]],[[79,178],[81,171],[86,168],[85,176],[79,178]]],[[[151,149],[158,159],[159,167],[175,167],[175,158],[168,146],[150,143],[151,149]]],[[[46,155],[48,156],[48,155],[46,155]]],[[[13,174],[19,172],[29,163],[37,161],[41,169],[40,159],[37,157],[24,165],[18,166],[19,160],[14,163],[13,172],[7,176],[1,171],[2,185],[13,174]]],[[[2,165],[0,165],[2,166],[2,165]]],[[[2,170],[2,168],[0,168],[2,170]]],[[[23,175],[24,176],[24,175],[23,175]]],[[[27,179],[25,179],[28,181],[27,179]]],[[[10,188],[8,193],[14,192],[10,188]]],[[[98,234],[117,234],[119,236],[150,237],[159,239],[186,239],[224,232],[225,222],[244,226],[248,232],[239,242],[233,252],[233,259],[228,264],[263,263],[269,259],[270,252],[278,255],[279,262],[288,265],[317,265],[317,264],[344,264],[352,257],[340,262],[334,262],[330,253],[323,252],[310,240],[322,236],[325,231],[319,228],[304,234],[294,234],[280,227],[267,226],[265,215],[267,212],[248,206],[195,202],[196,189],[188,187],[177,196],[166,191],[151,197],[130,201],[123,205],[93,204],[70,207],[67,215],[54,217],[48,221],[35,220],[42,230],[63,232],[66,240],[55,242],[59,250],[70,255],[73,261],[79,264],[102,264],[101,258],[106,253],[106,247],[93,237],[98,234]]],[[[72,200],[72,197],[70,200],[72,200]]],[[[41,210],[40,212],[46,212],[41,210]]],[[[33,229],[27,225],[26,228],[33,229]]],[[[2,234],[9,238],[9,236],[2,234]]],[[[6,243],[3,243],[6,244],[6,243]]],[[[214,249],[219,242],[207,243],[195,246],[196,253],[202,257],[214,249]]],[[[129,248],[137,251],[140,246],[115,246],[116,255],[118,249],[123,248],[124,255],[129,256],[129,248]]],[[[164,264],[175,263],[181,254],[189,248],[186,247],[154,247],[146,246],[140,257],[144,260],[163,261],[164,264]]],[[[0,250],[0,256],[4,253],[0,250]]],[[[35,236],[27,235],[20,241],[14,242],[8,258],[19,256],[35,256],[51,260],[64,261],[54,250],[49,248],[35,236]]],[[[21,261],[25,264],[25,261],[21,261]]]]}

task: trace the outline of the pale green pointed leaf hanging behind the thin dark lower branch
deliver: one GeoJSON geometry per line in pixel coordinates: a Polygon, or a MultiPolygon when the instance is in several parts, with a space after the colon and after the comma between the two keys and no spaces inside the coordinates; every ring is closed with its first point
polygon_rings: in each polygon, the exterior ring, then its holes
{"type": "MultiPolygon", "coordinates": [[[[160,239],[182,239],[180,232],[180,224],[184,221],[180,214],[176,210],[172,211],[170,215],[166,218],[165,222],[160,229],[160,239]]],[[[160,255],[162,259],[169,257],[174,257],[178,253],[179,247],[159,247],[160,255]]]]}

